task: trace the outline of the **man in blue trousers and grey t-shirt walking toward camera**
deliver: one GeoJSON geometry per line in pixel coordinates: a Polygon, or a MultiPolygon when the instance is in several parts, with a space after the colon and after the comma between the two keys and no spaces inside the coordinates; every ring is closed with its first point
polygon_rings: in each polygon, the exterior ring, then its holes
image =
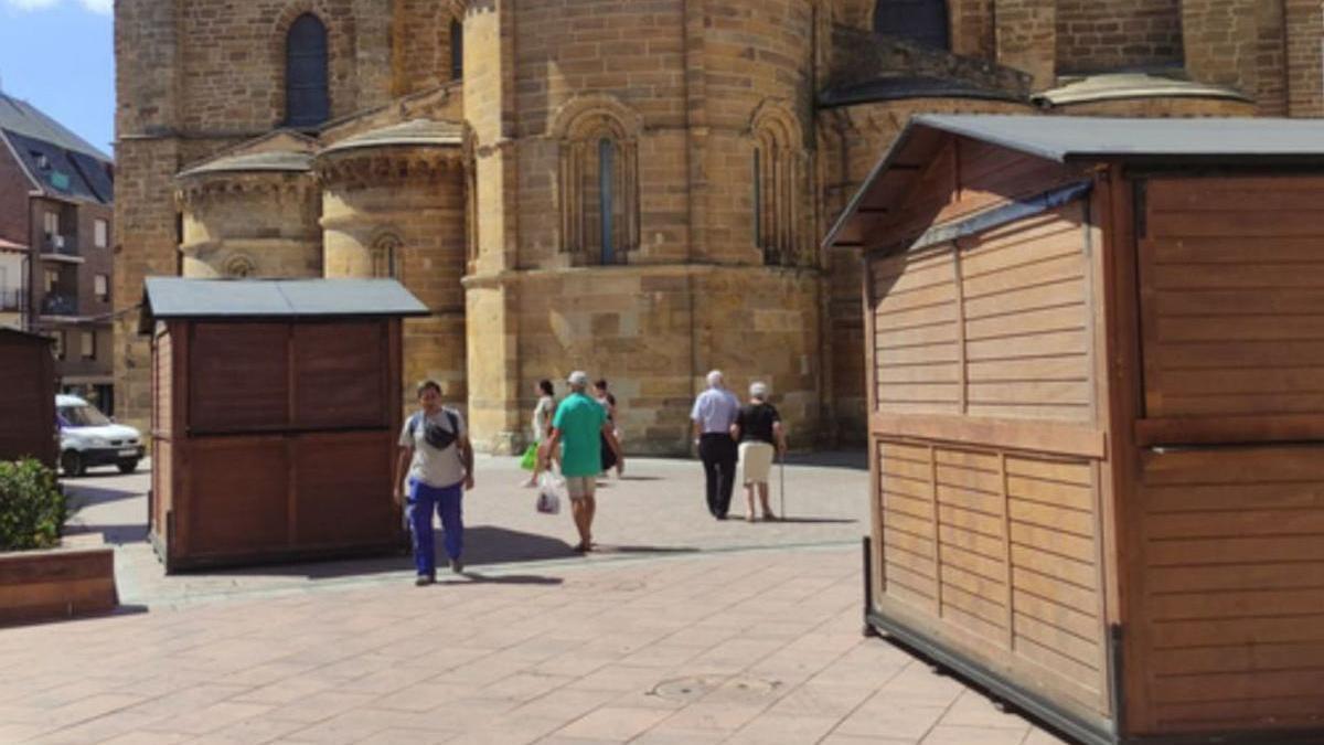
{"type": "Polygon", "coordinates": [[[465,522],[461,500],[474,488],[474,448],[459,412],[441,404],[441,386],[436,380],[418,384],[418,406],[400,432],[400,457],[396,460],[396,504],[406,500],[409,528],[413,533],[414,585],[437,581],[432,536],[433,512],[441,516],[442,540],[450,570],[465,570],[465,522]]]}

